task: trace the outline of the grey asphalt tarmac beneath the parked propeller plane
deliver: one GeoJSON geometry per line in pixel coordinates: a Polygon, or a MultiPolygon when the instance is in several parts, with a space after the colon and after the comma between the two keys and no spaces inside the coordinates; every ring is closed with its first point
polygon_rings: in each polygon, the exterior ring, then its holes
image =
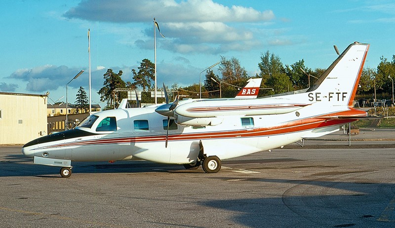
{"type": "Polygon", "coordinates": [[[61,178],[0,146],[0,227],[395,227],[395,141],[350,147],[343,136],[223,161],[215,174],[124,161],[72,163],[61,178]]]}

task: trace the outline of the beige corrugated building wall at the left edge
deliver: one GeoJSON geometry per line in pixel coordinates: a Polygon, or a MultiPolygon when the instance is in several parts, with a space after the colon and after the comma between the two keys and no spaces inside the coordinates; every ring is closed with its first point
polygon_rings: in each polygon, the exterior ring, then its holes
{"type": "Polygon", "coordinates": [[[47,135],[46,97],[0,93],[0,144],[25,144],[47,135]]]}

